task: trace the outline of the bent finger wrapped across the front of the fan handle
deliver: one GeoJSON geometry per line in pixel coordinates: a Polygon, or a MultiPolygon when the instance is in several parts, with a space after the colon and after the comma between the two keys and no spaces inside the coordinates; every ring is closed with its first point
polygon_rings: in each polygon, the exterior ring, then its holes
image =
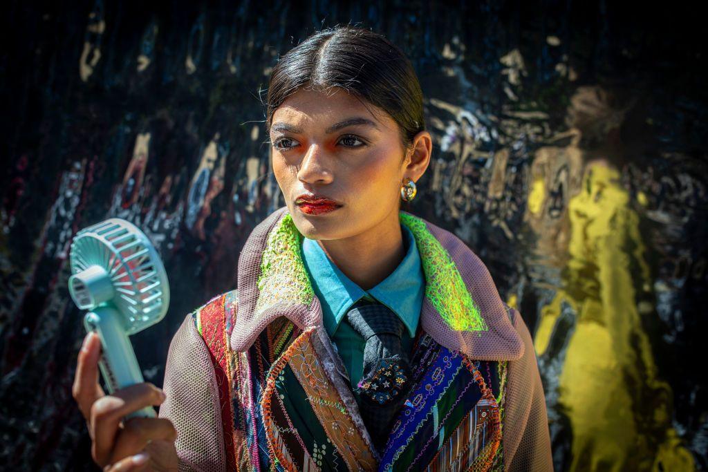
{"type": "Polygon", "coordinates": [[[159,405],[164,398],[164,393],[159,388],[143,382],[121,388],[112,395],[103,396],[93,402],[91,406],[93,460],[99,465],[108,462],[120,421],[125,415],[150,405],[159,405]]]}

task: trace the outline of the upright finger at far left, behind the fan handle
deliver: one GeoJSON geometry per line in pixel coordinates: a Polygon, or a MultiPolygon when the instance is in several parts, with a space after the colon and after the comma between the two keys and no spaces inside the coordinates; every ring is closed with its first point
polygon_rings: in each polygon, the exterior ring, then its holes
{"type": "Polygon", "coordinates": [[[72,395],[79,404],[84,418],[89,419],[91,405],[103,396],[103,388],[98,384],[98,358],[101,357],[101,340],[96,333],[89,333],[79,350],[76,360],[76,374],[72,395]]]}

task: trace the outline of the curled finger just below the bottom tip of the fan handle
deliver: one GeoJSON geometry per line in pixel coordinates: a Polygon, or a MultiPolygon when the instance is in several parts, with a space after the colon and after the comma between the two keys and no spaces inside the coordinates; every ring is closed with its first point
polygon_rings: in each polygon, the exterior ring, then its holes
{"type": "Polygon", "coordinates": [[[130,418],[118,433],[111,461],[137,454],[152,441],[174,442],[177,430],[167,418],[130,418]]]}

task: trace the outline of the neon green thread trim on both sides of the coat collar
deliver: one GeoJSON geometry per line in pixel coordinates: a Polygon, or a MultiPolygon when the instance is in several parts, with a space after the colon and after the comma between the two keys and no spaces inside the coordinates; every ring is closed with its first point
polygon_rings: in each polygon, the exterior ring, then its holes
{"type": "MultiPolygon", "coordinates": [[[[428,231],[425,221],[403,212],[400,220],[416,239],[430,304],[453,330],[486,331],[487,325],[467,291],[462,275],[440,241],[428,231]]],[[[299,302],[305,306],[312,303],[314,291],[302,262],[301,239],[290,214],[270,231],[261,258],[256,311],[278,301],[299,302]]]]}

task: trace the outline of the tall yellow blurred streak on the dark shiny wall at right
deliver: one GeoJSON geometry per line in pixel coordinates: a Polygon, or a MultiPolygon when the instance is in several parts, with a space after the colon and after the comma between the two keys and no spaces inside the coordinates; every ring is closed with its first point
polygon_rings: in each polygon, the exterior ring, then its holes
{"type": "MultiPolygon", "coordinates": [[[[529,208],[538,200],[530,197],[529,208]]],[[[650,273],[639,217],[619,172],[589,163],[568,213],[564,287],[542,309],[534,343],[543,355],[562,304],[570,304],[576,320],[558,388],[572,430],[570,470],[694,470],[671,427],[673,393],[659,375],[637,308],[638,292],[651,287],[650,273]]]]}

